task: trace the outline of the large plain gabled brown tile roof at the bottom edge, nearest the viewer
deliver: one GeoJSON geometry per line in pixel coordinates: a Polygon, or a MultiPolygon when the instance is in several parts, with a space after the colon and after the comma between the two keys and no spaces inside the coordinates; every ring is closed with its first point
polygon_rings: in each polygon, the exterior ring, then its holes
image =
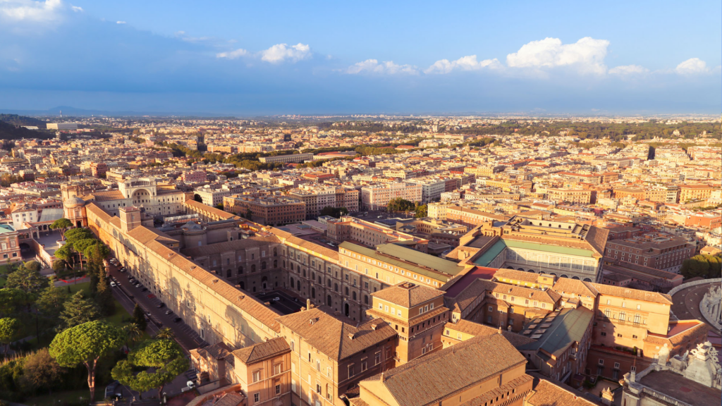
{"type": "MultiPolygon", "coordinates": [[[[437,405],[471,385],[523,363],[526,359],[508,340],[501,334],[492,334],[417,358],[365,379],[360,385],[383,385],[399,406],[437,405]]],[[[387,402],[391,404],[392,399],[387,402]]]]}

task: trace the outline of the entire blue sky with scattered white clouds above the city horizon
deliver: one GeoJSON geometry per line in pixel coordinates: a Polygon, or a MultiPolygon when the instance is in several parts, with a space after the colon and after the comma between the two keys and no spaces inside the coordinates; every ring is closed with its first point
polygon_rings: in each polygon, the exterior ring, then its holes
{"type": "Polygon", "coordinates": [[[0,112],[719,114],[722,2],[0,0],[0,112]]]}

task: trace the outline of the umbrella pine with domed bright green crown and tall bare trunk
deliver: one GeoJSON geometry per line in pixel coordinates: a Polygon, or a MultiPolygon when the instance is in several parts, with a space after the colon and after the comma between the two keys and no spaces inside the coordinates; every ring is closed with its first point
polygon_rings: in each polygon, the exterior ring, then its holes
{"type": "Polygon", "coordinates": [[[88,371],[90,401],[95,400],[95,370],[103,355],[123,345],[123,331],[103,321],[90,321],[64,330],[53,338],[50,355],[58,365],[83,364],[88,371]]]}

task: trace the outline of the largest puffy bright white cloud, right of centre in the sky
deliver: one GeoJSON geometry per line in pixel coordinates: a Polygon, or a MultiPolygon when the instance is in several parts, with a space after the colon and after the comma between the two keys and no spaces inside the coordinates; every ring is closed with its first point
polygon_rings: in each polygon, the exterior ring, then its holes
{"type": "Polygon", "coordinates": [[[516,68],[554,68],[572,66],[580,73],[604,74],[608,40],[585,37],[572,44],[559,38],[545,38],[525,44],[516,53],[506,56],[506,63],[516,68]]]}

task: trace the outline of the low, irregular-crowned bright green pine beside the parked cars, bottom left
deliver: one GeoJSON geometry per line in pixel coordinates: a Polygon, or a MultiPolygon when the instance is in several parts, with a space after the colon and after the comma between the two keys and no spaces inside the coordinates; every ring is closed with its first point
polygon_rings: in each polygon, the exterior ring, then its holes
{"type": "Polygon", "coordinates": [[[138,392],[158,388],[158,398],[162,397],[163,386],[188,369],[188,360],[178,342],[173,340],[147,340],[121,360],[110,374],[121,384],[130,386],[138,392]],[[134,368],[154,368],[152,372],[141,371],[134,374],[134,368]]]}

